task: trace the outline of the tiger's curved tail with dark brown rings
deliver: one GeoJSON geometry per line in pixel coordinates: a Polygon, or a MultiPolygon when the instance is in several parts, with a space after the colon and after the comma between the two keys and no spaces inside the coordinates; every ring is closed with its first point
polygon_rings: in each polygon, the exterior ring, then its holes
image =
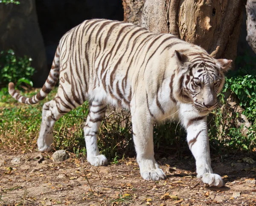
{"type": "Polygon", "coordinates": [[[59,46],[55,53],[55,57],[52,62],[52,69],[48,75],[48,78],[46,82],[44,83],[44,86],[42,89],[32,97],[25,97],[21,96],[17,90],[15,90],[14,84],[12,82],[9,83],[9,94],[16,99],[18,102],[24,103],[24,104],[36,104],[39,101],[43,100],[47,97],[47,95],[52,91],[55,84],[58,81],[59,74],[60,74],[60,61],[59,61],[59,46]]]}

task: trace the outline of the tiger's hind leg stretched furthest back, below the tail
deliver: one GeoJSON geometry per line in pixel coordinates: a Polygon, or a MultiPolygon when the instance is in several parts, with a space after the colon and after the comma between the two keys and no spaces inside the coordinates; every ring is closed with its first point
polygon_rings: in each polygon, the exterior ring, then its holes
{"type": "Polygon", "coordinates": [[[41,128],[37,141],[38,150],[41,152],[47,152],[52,149],[51,144],[53,142],[55,122],[71,110],[59,104],[59,101],[61,100],[57,94],[52,101],[45,103],[43,106],[41,128]]]}

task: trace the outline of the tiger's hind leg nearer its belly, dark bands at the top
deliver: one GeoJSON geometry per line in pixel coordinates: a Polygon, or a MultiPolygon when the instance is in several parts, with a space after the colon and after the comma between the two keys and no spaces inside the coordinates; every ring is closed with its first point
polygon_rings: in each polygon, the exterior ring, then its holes
{"type": "Polygon", "coordinates": [[[99,154],[97,144],[99,126],[104,118],[106,105],[100,102],[90,102],[90,112],[84,125],[84,139],[87,150],[87,161],[91,165],[100,166],[107,165],[107,158],[99,154]]]}

